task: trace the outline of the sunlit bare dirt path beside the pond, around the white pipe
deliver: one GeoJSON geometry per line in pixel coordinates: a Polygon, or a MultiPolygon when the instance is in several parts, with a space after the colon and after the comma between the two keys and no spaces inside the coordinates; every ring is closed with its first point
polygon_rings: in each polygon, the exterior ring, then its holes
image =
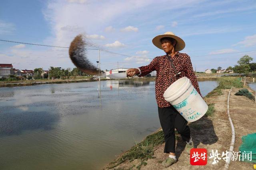
{"type": "MultiPolygon", "coordinates": [[[[252,92],[252,90],[250,91],[252,92]]],[[[238,88],[233,88],[232,92],[230,93],[230,116],[232,118],[236,133],[236,141],[234,145],[235,152],[238,151],[238,148],[242,143],[241,138],[243,135],[247,135],[248,133],[256,133],[256,104],[254,101],[246,98],[245,96],[235,96],[234,94],[236,92],[238,92],[238,88]]],[[[218,153],[220,153],[221,157],[222,152],[229,150],[230,147],[232,134],[227,115],[228,93],[228,89],[222,89],[221,96],[216,94],[210,98],[205,98],[207,104],[214,104],[214,115],[212,117],[204,116],[200,120],[189,124],[195,147],[206,148],[208,151],[208,156],[210,156],[210,152],[212,152],[212,150],[218,150],[218,153]]],[[[206,166],[190,165],[190,156],[183,151],[184,146],[185,144],[180,137],[176,141],[176,157],[178,157],[178,162],[172,166],[169,166],[168,168],[163,168],[160,166],[160,162],[165,160],[168,156],[168,154],[163,153],[164,144],[156,147],[156,150],[154,151],[154,156],[156,158],[148,159],[147,165],[142,166],[141,170],[212,170],[224,168],[225,161],[223,159],[219,160],[217,164],[212,165],[213,158],[208,158],[206,166]]],[[[132,165],[138,165],[139,163],[139,160],[124,162],[114,168],[114,170],[130,169],[132,165]]],[[[253,168],[253,164],[240,161],[231,161],[229,169],[242,170],[248,169],[249,167],[253,168]]],[[[136,169],[136,166],[134,166],[132,169],[136,169]]]]}

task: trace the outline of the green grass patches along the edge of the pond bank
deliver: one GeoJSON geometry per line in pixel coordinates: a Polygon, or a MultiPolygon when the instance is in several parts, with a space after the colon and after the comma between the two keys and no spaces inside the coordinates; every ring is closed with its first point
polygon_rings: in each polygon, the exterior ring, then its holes
{"type": "MultiPolygon", "coordinates": [[[[212,96],[222,95],[222,89],[230,89],[231,87],[242,88],[243,83],[239,80],[239,78],[233,77],[221,77],[218,78],[219,85],[212,90],[212,92],[208,93],[204,98],[210,98],[212,96]]],[[[206,117],[212,118],[214,116],[214,104],[208,104],[208,111],[206,112],[206,117]]],[[[192,123],[191,127],[194,129],[200,129],[202,123],[192,123]]],[[[180,135],[176,132],[176,138],[180,137],[180,135]]],[[[164,143],[164,134],[163,131],[157,131],[156,133],[147,136],[141,143],[136,144],[130,150],[122,153],[116,160],[109,163],[106,166],[106,169],[113,169],[115,170],[124,170],[124,168],[118,168],[121,164],[125,164],[125,162],[132,162],[133,160],[138,159],[139,164],[129,166],[126,169],[140,169],[142,165],[147,165],[147,160],[149,158],[154,157],[154,150],[164,143]],[[118,167],[117,167],[118,166],[118,167]]],[[[122,166],[122,165],[121,165],[122,166]]]]}

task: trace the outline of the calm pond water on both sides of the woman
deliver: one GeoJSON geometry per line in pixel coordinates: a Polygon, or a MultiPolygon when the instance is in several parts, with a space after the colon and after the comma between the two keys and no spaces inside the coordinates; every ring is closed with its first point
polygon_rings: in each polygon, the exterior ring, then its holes
{"type": "MultiPolygon", "coordinates": [[[[154,83],[0,88],[0,169],[102,168],[160,128],[154,83]]],[[[205,96],[218,83],[199,86],[205,96]]]]}

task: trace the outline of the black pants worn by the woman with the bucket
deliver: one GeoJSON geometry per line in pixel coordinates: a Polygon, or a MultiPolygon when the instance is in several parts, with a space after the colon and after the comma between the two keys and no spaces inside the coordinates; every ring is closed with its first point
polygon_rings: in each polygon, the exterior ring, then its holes
{"type": "Polygon", "coordinates": [[[175,132],[174,128],[180,133],[183,141],[190,140],[190,129],[187,121],[173,107],[158,107],[160,124],[164,132],[164,153],[175,153],[175,132]]]}

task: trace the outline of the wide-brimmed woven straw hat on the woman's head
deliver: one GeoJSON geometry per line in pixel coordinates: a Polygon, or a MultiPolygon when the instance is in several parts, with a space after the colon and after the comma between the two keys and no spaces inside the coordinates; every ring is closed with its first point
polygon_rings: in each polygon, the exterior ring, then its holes
{"type": "Polygon", "coordinates": [[[160,39],[163,37],[170,37],[170,38],[176,39],[175,51],[181,51],[182,49],[185,48],[185,42],[180,37],[174,35],[173,32],[166,32],[162,35],[158,35],[158,36],[154,37],[152,39],[152,43],[156,47],[158,47],[159,49],[162,50],[162,45],[161,45],[160,39]]]}

